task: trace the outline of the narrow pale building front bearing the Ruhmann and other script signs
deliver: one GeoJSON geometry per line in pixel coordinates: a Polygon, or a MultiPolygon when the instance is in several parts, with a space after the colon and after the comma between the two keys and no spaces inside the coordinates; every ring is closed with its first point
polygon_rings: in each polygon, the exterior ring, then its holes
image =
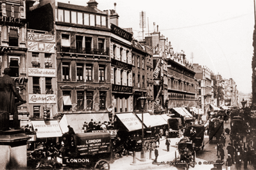
{"type": "Polygon", "coordinates": [[[56,47],[55,35],[28,29],[28,104],[32,118],[43,118],[49,112],[56,116],[56,47]]]}

